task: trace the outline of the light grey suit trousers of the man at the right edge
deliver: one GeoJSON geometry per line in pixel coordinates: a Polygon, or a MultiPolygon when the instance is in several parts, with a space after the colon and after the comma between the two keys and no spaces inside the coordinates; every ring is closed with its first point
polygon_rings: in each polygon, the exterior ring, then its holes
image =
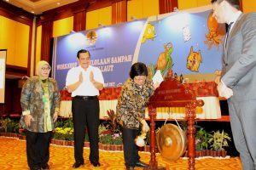
{"type": "Polygon", "coordinates": [[[236,145],[240,153],[242,169],[256,169],[256,99],[235,101],[228,99],[230,124],[236,145]]]}

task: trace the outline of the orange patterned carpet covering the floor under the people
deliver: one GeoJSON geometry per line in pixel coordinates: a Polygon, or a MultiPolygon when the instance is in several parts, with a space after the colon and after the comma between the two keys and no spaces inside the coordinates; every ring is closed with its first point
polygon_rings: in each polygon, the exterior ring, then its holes
{"type": "MultiPolygon", "coordinates": [[[[88,161],[89,150],[84,149],[84,166],[78,169],[99,169],[99,170],[123,170],[124,158],[123,152],[100,151],[101,167],[93,167],[88,161]]],[[[148,162],[150,155],[141,152],[141,161],[148,162]]],[[[161,167],[167,170],[186,170],[188,161],[179,159],[177,161],[166,161],[160,155],[157,161],[161,167]]],[[[50,145],[49,167],[52,170],[73,169],[72,165],[73,147],[50,145]]],[[[238,157],[225,159],[202,158],[195,161],[196,170],[240,170],[241,163],[238,157]]],[[[21,170],[28,169],[26,164],[26,141],[0,137],[0,169],[1,170],[21,170]]],[[[142,168],[136,168],[137,170],[142,168]]]]}

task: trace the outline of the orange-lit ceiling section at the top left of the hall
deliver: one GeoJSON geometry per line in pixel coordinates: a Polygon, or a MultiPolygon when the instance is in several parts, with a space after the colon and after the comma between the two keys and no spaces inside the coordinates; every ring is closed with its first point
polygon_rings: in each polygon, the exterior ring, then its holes
{"type": "Polygon", "coordinates": [[[79,0],[4,0],[7,3],[23,8],[27,12],[34,14],[42,14],[52,8],[58,8],[68,3],[74,3],[79,0]],[[59,4],[58,4],[59,3],[59,4]]]}

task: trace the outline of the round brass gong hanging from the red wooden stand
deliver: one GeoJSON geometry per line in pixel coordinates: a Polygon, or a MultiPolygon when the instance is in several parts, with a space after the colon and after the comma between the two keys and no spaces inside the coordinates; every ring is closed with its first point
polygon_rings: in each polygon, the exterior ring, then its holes
{"type": "Polygon", "coordinates": [[[180,127],[168,123],[160,127],[156,135],[160,155],[170,161],[176,161],[187,149],[187,137],[180,127]]]}

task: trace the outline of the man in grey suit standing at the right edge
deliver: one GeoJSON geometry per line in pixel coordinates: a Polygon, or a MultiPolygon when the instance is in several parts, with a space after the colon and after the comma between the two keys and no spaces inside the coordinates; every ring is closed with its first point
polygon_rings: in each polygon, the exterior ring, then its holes
{"type": "Polygon", "coordinates": [[[213,16],[229,25],[218,94],[228,99],[230,123],[244,170],[256,169],[256,13],[239,0],[212,0],[213,16]]]}

